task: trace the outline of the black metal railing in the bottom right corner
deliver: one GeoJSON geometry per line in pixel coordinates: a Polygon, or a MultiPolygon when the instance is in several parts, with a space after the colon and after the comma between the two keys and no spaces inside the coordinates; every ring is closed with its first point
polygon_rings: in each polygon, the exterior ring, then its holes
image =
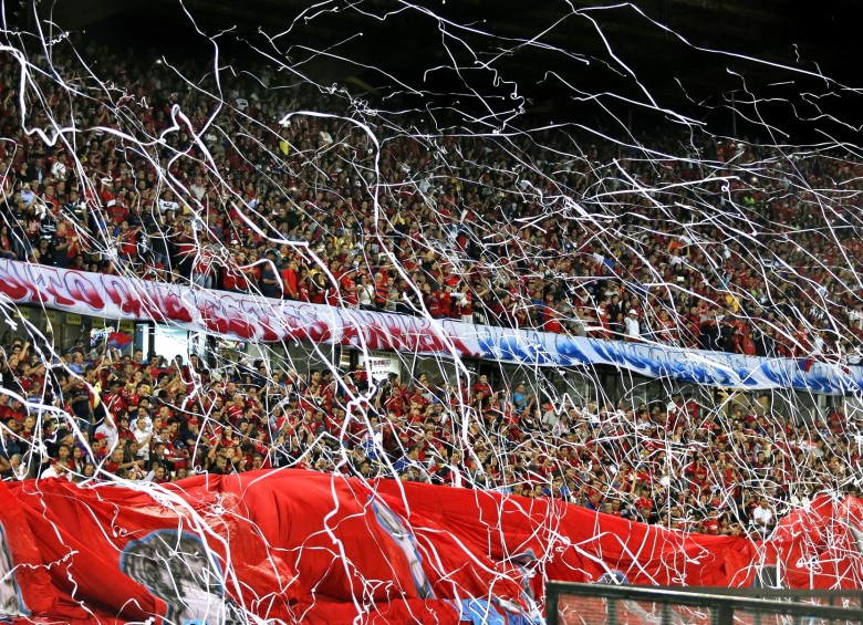
{"type": "Polygon", "coordinates": [[[862,625],[861,591],[550,582],[549,625],[862,625]]]}

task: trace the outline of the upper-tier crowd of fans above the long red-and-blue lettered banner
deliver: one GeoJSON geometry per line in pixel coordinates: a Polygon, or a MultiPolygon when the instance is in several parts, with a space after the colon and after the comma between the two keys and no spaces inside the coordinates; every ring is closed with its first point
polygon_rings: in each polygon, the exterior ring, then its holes
{"type": "MultiPolygon", "coordinates": [[[[258,80],[222,76],[222,102],[189,88],[180,77],[189,72],[80,48],[114,59],[101,79],[128,87],[66,97],[37,75],[41,97],[21,98],[18,65],[0,67],[7,258],[597,338],[860,362],[860,159],[689,134],[648,137],[649,150],[580,147],[564,129],[433,139],[423,138],[430,121],[410,112],[363,118],[381,135],[377,150],[347,98],[270,88],[278,72],[266,67],[258,80]],[[282,123],[303,110],[336,116],[282,123]],[[77,128],[75,143],[52,147],[24,132],[51,123],[77,128]]],[[[94,83],[76,59],[58,50],[50,75],[94,83]]]]}

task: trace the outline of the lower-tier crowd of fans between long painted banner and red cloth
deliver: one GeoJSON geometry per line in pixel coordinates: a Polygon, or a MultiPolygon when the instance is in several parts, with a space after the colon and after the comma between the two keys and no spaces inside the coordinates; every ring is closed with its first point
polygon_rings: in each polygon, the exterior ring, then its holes
{"type": "Polygon", "coordinates": [[[769,402],[705,405],[670,392],[648,404],[579,405],[552,402],[543,383],[486,375],[438,386],[389,374],[371,387],[363,368],[300,375],[261,361],[210,369],[197,356],[49,353],[21,340],[6,348],[3,479],[163,483],[295,467],[755,535],[815,493],[857,492],[859,430],[842,408],[812,423],[769,402]]]}

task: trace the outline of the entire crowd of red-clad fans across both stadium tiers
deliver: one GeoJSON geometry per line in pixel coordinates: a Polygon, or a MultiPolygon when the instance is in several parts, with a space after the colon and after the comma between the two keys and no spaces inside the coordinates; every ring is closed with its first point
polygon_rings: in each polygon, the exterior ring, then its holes
{"type": "MultiPolygon", "coordinates": [[[[188,72],[81,48],[114,60],[104,84],[58,52],[56,72],[33,76],[33,97],[15,91],[14,62],[0,66],[4,258],[860,362],[860,160],[698,136],[652,137],[652,152],[582,149],[551,131],[432,140],[388,122],[371,126],[377,150],[346,98],[268,88],[267,70],[223,76],[221,102],[190,90],[188,72]],[[96,95],[67,97],[56,76],[96,95]],[[334,116],[283,123],[303,110],[334,116]],[[76,140],[49,146],[25,131],[52,124],[76,128],[76,140]]],[[[428,127],[418,113],[397,121],[428,127]]],[[[211,372],[197,357],[53,357],[25,341],[6,345],[0,373],[6,479],[163,482],[295,466],[560,498],[719,534],[767,531],[814,492],[856,488],[860,446],[841,410],[805,424],[680,396],[551,405],[524,385],[420,376],[391,378],[349,412],[368,389],[363,371],[211,372]]]]}

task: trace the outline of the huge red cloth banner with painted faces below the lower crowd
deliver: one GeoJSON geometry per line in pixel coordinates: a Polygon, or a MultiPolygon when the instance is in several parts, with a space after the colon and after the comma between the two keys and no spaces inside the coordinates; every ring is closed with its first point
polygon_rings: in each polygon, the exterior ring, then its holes
{"type": "Polygon", "coordinates": [[[20,622],[541,618],[547,580],[860,587],[860,500],[773,538],[686,534],[553,500],[278,470],[168,487],[0,485],[0,615],[20,622]]]}

